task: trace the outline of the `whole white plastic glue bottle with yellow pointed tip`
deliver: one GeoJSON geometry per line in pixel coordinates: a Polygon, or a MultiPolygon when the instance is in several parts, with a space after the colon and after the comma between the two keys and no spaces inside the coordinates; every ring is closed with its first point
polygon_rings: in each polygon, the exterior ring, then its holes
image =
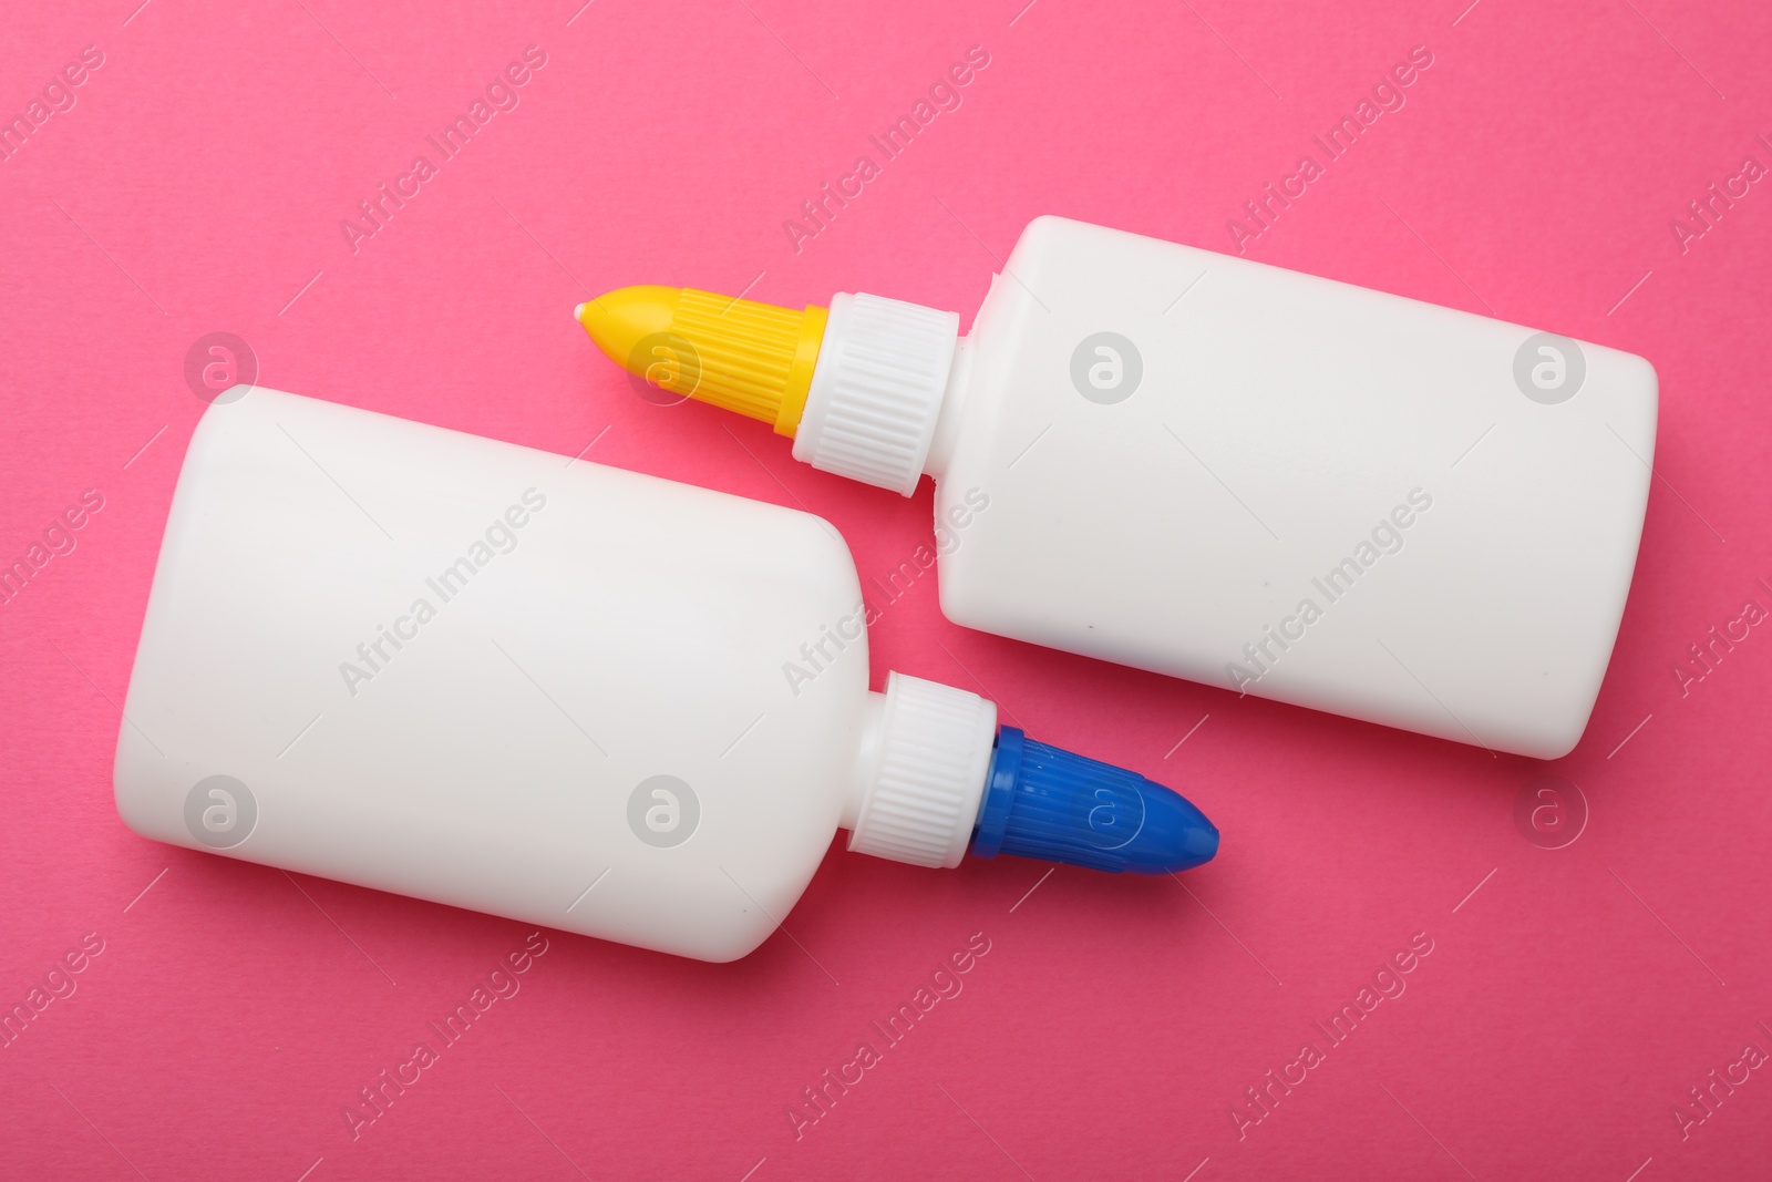
{"type": "Polygon", "coordinates": [[[1588,723],[1648,498],[1643,358],[1063,218],[964,338],[847,294],[627,287],[578,319],[817,468],[932,475],[957,624],[1492,751],[1588,723]]]}

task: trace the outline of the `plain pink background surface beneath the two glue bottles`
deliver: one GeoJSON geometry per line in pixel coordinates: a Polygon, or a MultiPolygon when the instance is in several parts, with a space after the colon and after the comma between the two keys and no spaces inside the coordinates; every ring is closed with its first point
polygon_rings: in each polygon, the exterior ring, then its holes
{"type": "Polygon", "coordinates": [[[1685,1139],[1673,1108],[1772,1051],[1772,634],[1685,693],[1673,668],[1744,601],[1772,606],[1772,184],[1685,250],[1671,223],[1745,156],[1772,165],[1772,9],[579,2],[5,16],[7,117],[82,46],[105,64],[0,163],[0,558],[85,489],[105,507],[0,606],[0,1005],[83,934],[105,945],[0,1051],[0,1175],[1767,1175],[1772,1070],[1685,1139]],[[532,44],[521,105],[353,253],[340,220],[532,44]],[[962,106],[796,252],[783,220],[975,44],[962,106]],[[353,1139],[344,1104],[526,929],[119,822],[117,704],[202,411],[191,344],[234,331],[264,385],[563,454],[608,427],[588,459],[804,505],[882,576],[929,539],[927,482],[904,502],[760,424],[649,404],[572,305],[634,282],[865,289],[966,323],[1040,213],[1226,250],[1226,218],[1418,44],[1407,105],[1249,255],[1659,369],[1660,480],[1575,753],[1492,758],[968,633],[930,578],[872,629],[875,680],[980,688],[1175,785],[1223,828],[1217,861],[1184,884],[838,847],[792,939],[734,966],[553,934],[353,1139]],[[1547,771],[1589,810],[1561,849],[1515,822],[1547,771]],[[973,932],[991,952],[964,992],[796,1139],[801,1088],[973,932]],[[1239,1136],[1244,1088],[1324,1044],[1313,1019],[1416,932],[1434,952],[1407,992],[1239,1136]]]}

